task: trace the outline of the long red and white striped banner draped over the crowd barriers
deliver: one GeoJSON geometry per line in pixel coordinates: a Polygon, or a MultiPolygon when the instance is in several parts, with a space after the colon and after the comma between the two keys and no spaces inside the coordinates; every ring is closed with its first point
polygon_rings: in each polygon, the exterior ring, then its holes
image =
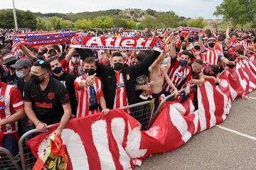
{"type": "MultiPolygon", "coordinates": [[[[198,86],[198,110],[192,96],[183,103],[167,102],[149,130],[118,109],[70,120],[63,130],[68,169],[133,169],[151,154],[168,152],[185,144],[194,134],[222,123],[235,98],[256,88],[255,60],[240,61],[221,74],[216,86],[206,81],[198,86]]],[[[57,128],[29,140],[33,154],[43,152],[48,135],[57,128]]]]}

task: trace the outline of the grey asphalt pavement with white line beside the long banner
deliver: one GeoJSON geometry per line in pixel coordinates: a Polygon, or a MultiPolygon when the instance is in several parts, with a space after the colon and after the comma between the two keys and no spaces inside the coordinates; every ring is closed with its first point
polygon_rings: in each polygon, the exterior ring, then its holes
{"type": "Polygon", "coordinates": [[[256,170],[256,91],[248,96],[254,98],[234,101],[220,127],[194,135],[171,152],[154,154],[136,170],[256,170]]]}

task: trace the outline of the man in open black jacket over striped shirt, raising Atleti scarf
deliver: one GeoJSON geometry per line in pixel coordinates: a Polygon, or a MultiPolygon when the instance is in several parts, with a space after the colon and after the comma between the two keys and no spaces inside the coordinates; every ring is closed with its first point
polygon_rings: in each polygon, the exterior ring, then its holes
{"type": "Polygon", "coordinates": [[[164,47],[156,43],[154,52],[151,52],[146,60],[131,67],[124,67],[124,58],[120,52],[112,55],[111,67],[97,62],[96,73],[102,78],[107,108],[122,108],[137,103],[136,79],[144,74],[163,49],[164,47]]]}

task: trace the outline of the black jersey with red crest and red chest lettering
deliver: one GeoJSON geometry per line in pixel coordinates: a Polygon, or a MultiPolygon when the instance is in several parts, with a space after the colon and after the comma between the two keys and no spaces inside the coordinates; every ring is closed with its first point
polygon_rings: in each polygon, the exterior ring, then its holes
{"type": "Polygon", "coordinates": [[[68,91],[60,81],[50,78],[48,86],[41,91],[39,84],[31,80],[26,81],[23,87],[24,101],[32,102],[32,109],[38,120],[47,125],[60,123],[63,116],[63,105],[70,103],[68,91]]]}

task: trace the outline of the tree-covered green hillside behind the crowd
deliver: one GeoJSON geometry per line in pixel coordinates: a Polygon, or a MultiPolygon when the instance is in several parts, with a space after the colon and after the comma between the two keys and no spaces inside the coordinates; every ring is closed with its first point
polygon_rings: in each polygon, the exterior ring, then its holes
{"type": "MultiPolygon", "coordinates": [[[[61,28],[176,28],[178,26],[207,26],[203,18],[185,18],[174,11],[142,10],[127,8],[82,13],[32,13],[16,10],[18,27],[32,30],[60,30],[61,28]]],[[[0,28],[14,28],[14,17],[11,9],[0,11],[0,28]]]]}

